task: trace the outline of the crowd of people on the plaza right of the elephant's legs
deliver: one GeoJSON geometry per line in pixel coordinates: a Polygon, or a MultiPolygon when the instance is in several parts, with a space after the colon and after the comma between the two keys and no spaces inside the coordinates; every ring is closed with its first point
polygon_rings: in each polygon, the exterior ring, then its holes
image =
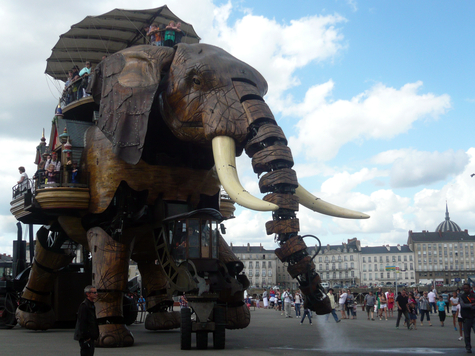
{"type": "MultiPolygon", "coordinates": [[[[458,340],[465,340],[466,350],[471,353],[470,333],[472,329],[475,332],[475,292],[468,284],[464,284],[463,290],[457,289],[452,293],[444,292],[440,295],[435,288],[430,291],[404,289],[397,294],[392,289],[383,292],[382,288],[379,288],[375,293],[369,291],[364,297],[358,295],[360,303],[349,289],[341,289],[335,294],[333,288],[329,288],[327,295],[330,298],[331,313],[325,316],[326,322],[330,322],[330,315],[336,323],[342,319],[356,319],[359,306],[370,321],[396,318],[397,329],[403,316],[404,327],[417,330],[418,324],[424,326],[425,321],[432,327],[431,317],[434,316],[437,317],[440,327],[445,327],[447,315],[452,315],[453,328],[459,333],[458,340]],[[341,313],[340,317],[337,309],[341,313]]],[[[262,301],[263,308],[280,311],[286,318],[293,317],[291,307],[294,305],[295,317],[301,318],[300,323],[308,318],[312,324],[312,311],[301,311],[303,300],[299,290],[292,293],[290,289],[280,291],[279,288],[271,288],[269,292],[264,290],[261,296],[255,296],[254,299],[248,296],[246,304],[248,307],[259,308],[262,301]]]]}

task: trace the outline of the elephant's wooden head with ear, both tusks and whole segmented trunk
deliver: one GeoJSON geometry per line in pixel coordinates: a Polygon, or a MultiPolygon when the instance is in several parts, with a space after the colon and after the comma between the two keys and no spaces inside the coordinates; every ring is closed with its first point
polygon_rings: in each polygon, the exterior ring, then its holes
{"type": "Polygon", "coordinates": [[[137,46],[101,62],[89,89],[100,102],[99,128],[127,163],[157,164],[154,152],[191,143],[190,154],[203,149],[212,156],[231,199],[252,210],[273,211],[266,230],[280,243],[276,254],[299,280],[307,306],[329,312],[295,212],[302,204],[331,216],[369,216],[324,202],[299,185],[287,139],[264,102],[267,83],[259,72],[210,45],[137,46]],[[269,194],[263,200],[239,183],[235,157],[243,149],[254,172],[264,173],[259,187],[269,194]]]}

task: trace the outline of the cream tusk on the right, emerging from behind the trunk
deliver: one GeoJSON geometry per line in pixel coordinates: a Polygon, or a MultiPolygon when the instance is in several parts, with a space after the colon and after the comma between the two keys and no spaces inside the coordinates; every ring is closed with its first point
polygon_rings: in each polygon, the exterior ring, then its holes
{"type": "Polygon", "coordinates": [[[316,211],[317,213],[336,216],[337,218],[346,218],[346,219],[368,219],[369,215],[360,213],[358,211],[341,208],[339,206],[327,203],[326,201],[317,198],[308,192],[301,185],[295,190],[295,195],[299,197],[300,204],[309,208],[310,210],[316,211]]]}

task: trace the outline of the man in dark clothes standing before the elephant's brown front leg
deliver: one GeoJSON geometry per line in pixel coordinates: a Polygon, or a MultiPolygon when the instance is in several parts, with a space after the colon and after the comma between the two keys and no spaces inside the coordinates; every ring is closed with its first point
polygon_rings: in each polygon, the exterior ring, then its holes
{"type": "Polygon", "coordinates": [[[79,305],[74,340],[79,341],[81,356],[94,355],[94,342],[99,338],[99,326],[96,320],[94,302],[97,299],[97,289],[94,286],[84,288],[86,299],[79,305]]]}

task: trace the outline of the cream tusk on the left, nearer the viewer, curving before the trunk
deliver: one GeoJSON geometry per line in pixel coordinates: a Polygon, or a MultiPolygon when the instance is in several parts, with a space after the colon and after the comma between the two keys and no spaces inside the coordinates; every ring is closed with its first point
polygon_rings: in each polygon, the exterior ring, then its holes
{"type": "Polygon", "coordinates": [[[245,208],[257,211],[275,211],[278,205],[249,194],[241,183],[236,170],[236,144],[228,136],[213,138],[213,156],[218,177],[229,197],[245,208]]]}

